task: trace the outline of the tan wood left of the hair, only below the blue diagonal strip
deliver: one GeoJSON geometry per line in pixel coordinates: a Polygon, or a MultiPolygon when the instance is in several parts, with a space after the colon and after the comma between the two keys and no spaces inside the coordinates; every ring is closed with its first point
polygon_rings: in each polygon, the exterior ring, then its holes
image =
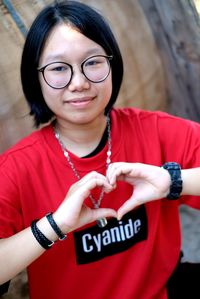
{"type": "Polygon", "coordinates": [[[0,6],[0,152],[31,130],[20,83],[24,38],[4,5],[0,6]]]}

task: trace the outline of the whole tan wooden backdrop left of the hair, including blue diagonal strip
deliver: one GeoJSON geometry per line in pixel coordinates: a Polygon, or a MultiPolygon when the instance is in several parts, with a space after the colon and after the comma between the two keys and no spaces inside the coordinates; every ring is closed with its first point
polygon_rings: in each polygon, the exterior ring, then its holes
{"type": "Polygon", "coordinates": [[[24,35],[37,13],[50,1],[0,3],[0,153],[33,130],[20,82],[24,35]]]}

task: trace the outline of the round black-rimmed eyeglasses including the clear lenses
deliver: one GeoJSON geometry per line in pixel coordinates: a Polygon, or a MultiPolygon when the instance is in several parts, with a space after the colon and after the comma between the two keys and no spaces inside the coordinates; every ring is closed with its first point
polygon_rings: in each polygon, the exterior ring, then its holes
{"type": "MultiPolygon", "coordinates": [[[[104,81],[110,73],[110,60],[113,56],[95,55],[85,59],[80,67],[83,75],[91,82],[104,81]]],[[[66,62],[52,62],[37,69],[45,82],[54,89],[65,88],[72,80],[73,67],[66,62]]]]}

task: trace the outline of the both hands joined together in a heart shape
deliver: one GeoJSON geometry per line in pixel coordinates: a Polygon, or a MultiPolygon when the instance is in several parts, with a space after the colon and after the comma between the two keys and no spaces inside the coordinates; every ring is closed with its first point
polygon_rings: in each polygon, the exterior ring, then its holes
{"type": "Polygon", "coordinates": [[[136,206],[165,197],[169,192],[170,176],[163,168],[142,163],[112,163],[106,176],[95,171],[88,173],[69,189],[64,201],[54,213],[54,219],[67,233],[99,218],[116,217],[136,206]],[[106,193],[117,187],[117,181],[134,186],[131,197],[118,211],[107,208],[91,209],[84,204],[95,187],[102,187],[106,193]]]}

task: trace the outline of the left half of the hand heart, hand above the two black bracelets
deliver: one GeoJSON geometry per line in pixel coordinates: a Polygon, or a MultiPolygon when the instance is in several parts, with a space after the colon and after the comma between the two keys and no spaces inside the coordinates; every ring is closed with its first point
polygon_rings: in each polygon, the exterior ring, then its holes
{"type": "Polygon", "coordinates": [[[72,231],[103,217],[117,217],[112,209],[91,209],[84,205],[85,199],[95,187],[108,193],[113,190],[107,178],[95,171],[84,176],[69,189],[64,201],[54,213],[54,219],[63,233],[72,231]]]}

